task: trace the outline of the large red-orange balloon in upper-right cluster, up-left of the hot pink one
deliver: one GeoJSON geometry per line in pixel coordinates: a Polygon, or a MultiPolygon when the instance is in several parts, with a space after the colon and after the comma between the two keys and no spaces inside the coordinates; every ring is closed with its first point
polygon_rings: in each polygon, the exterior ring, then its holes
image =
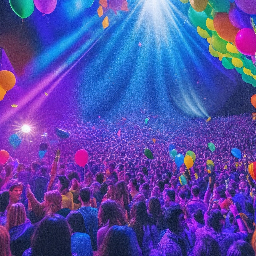
{"type": "Polygon", "coordinates": [[[213,26],[220,38],[234,42],[239,28],[234,27],[226,12],[217,12],[213,19],[213,26]]]}

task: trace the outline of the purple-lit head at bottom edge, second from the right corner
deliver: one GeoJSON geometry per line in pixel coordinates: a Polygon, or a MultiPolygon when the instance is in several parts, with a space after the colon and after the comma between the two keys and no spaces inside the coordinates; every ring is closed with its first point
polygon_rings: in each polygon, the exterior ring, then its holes
{"type": "Polygon", "coordinates": [[[196,240],[193,256],[221,256],[220,246],[210,235],[205,235],[196,240]]]}

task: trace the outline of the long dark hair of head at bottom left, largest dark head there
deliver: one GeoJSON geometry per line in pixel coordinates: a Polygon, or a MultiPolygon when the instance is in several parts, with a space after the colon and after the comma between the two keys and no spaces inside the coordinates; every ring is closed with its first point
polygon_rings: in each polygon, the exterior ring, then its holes
{"type": "Polygon", "coordinates": [[[70,228],[65,218],[58,214],[45,216],[31,239],[34,256],[72,256],[70,228]]]}

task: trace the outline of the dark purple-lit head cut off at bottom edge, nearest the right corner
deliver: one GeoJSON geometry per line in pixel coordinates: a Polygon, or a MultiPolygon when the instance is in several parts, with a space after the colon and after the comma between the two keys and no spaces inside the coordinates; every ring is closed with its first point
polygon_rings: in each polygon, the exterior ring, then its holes
{"type": "Polygon", "coordinates": [[[229,247],[227,256],[255,256],[255,252],[250,244],[237,240],[229,247]]]}

